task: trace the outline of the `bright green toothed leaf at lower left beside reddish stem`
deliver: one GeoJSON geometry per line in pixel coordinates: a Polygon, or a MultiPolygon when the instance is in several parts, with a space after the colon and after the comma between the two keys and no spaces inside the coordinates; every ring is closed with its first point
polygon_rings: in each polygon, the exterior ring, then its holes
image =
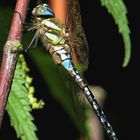
{"type": "Polygon", "coordinates": [[[31,115],[32,108],[29,100],[30,86],[26,81],[29,69],[25,64],[23,56],[20,55],[6,110],[18,138],[22,140],[38,140],[35,134],[37,128],[33,123],[33,116],[31,115]]]}

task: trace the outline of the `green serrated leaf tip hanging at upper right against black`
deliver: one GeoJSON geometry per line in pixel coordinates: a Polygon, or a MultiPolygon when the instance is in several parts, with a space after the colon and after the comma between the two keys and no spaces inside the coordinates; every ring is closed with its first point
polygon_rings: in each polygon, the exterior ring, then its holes
{"type": "Polygon", "coordinates": [[[131,57],[130,29],[126,16],[126,6],[122,0],[101,0],[101,4],[105,6],[108,12],[113,16],[115,23],[118,25],[119,33],[122,34],[125,45],[123,67],[126,67],[131,57]]]}

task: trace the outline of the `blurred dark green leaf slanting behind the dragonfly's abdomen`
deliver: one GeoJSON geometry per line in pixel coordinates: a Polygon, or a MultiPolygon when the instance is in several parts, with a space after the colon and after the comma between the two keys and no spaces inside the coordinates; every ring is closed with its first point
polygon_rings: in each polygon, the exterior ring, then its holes
{"type": "MultiPolygon", "coordinates": [[[[29,56],[35,62],[39,72],[45,79],[52,96],[60,102],[80,132],[86,134],[86,128],[84,125],[86,114],[84,114],[84,110],[82,110],[82,115],[78,117],[77,113],[75,112],[78,109],[76,110],[75,106],[73,106],[74,95],[71,93],[74,92],[74,94],[78,94],[74,81],[69,77],[65,70],[61,69],[60,67],[58,68],[54,64],[50,55],[47,55],[47,53],[41,49],[30,51],[29,56]],[[76,91],[73,91],[73,86],[75,88],[74,90],[76,91]]],[[[79,99],[77,96],[77,101],[78,100],[79,99]]]]}

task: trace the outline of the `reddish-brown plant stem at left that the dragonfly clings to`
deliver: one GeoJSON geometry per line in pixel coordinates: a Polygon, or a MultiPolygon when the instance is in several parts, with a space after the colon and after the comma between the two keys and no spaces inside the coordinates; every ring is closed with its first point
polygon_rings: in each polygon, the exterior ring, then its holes
{"type": "Polygon", "coordinates": [[[26,17],[28,0],[17,0],[7,42],[3,49],[0,70],[0,126],[2,123],[7,96],[12,84],[22,36],[22,23],[26,17]]]}

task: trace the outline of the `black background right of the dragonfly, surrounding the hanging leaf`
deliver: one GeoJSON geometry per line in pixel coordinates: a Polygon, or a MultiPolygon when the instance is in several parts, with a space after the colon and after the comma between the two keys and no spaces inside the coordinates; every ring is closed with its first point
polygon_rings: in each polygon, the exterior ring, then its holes
{"type": "Polygon", "coordinates": [[[105,111],[113,121],[119,140],[138,139],[139,92],[139,14],[136,1],[124,1],[128,8],[132,57],[122,68],[124,44],[111,15],[99,1],[81,3],[83,21],[90,46],[89,83],[102,85],[108,92],[105,111]],[[93,3],[92,3],[93,2],[93,3]],[[87,15],[86,15],[87,13],[87,15]],[[112,112],[110,115],[109,112],[112,112]]]}

